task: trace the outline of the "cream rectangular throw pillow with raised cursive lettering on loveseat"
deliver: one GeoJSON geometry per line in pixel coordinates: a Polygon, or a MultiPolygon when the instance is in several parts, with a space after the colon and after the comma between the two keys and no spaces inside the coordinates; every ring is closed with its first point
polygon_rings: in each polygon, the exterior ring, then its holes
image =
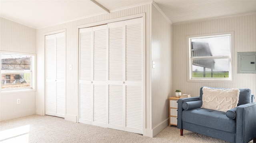
{"type": "Polygon", "coordinates": [[[201,108],[226,112],[238,104],[239,89],[215,89],[203,87],[201,108]]]}

